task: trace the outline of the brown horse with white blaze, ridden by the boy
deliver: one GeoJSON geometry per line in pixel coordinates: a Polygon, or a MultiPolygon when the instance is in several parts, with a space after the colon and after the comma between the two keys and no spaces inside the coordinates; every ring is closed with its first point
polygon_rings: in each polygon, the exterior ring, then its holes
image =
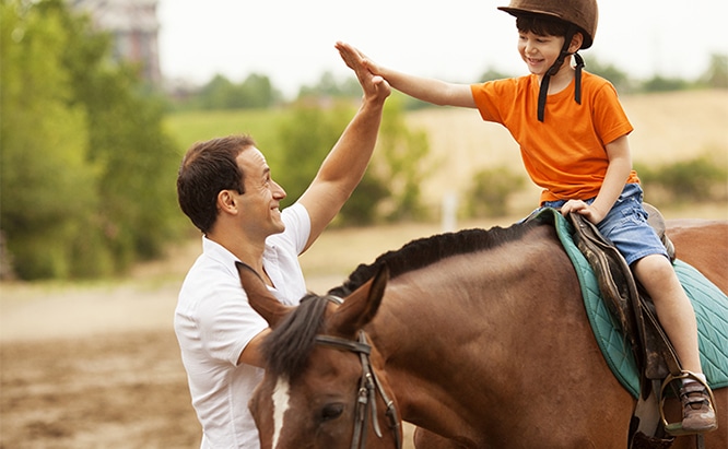
{"type": "MultiPolygon", "coordinates": [[[[728,222],[669,222],[668,234],[728,292],[728,222]]],[[[412,241],[332,290],[343,305],[310,295],[286,308],[239,272],[273,328],[250,401],[263,449],[396,448],[395,412],[419,427],[418,448],[627,447],[635,400],[600,353],[553,226],[412,241]]],[[[728,447],[727,390],[708,449],[728,447]]]]}

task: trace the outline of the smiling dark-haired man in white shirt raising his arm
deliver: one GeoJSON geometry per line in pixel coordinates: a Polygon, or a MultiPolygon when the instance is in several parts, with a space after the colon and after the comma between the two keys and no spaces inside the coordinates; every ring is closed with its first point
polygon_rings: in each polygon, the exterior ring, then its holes
{"type": "MultiPolygon", "coordinates": [[[[337,44],[341,52],[341,45],[337,44]]],[[[177,178],[179,205],[203,233],[175,310],[175,332],[202,425],[202,448],[258,448],[247,404],[262,378],[259,344],[269,332],[249,306],[235,261],[254,268],[283,304],[306,293],[297,256],[336,216],[361,181],[390,94],[380,76],[344,62],[364,91],[362,105],[295,204],[248,137],[192,145],[177,178]]]]}

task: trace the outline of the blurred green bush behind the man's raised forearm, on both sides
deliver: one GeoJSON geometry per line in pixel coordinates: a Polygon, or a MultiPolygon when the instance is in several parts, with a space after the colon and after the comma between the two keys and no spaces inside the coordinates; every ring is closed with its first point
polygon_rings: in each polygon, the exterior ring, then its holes
{"type": "MultiPolygon", "coordinates": [[[[307,97],[291,107],[291,118],[279,128],[280,149],[268,161],[274,178],[286,190],[283,205],[308,187],[354,115],[350,101],[307,97]]],[[[410,131],[401,102],[396,96],[389,98],[372,163],[334,224],[361,226],[422,217],[420,185],[427,173],[423,164],[428,152],[425,133],[410,131]]]]}

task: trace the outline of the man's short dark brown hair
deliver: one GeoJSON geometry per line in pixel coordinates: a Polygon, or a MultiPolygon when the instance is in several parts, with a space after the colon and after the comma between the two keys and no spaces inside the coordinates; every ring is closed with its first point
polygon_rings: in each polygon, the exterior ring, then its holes
{"type": "Polygon", "coordinates": [[[231,189],[244,193],[244,174],[237,166],[243,150],[255,146],[249,135],[228,135],[198,142],[185,154],[177,175],[177,201],[203,234],[218,218],[218,193],[231,189]]]}

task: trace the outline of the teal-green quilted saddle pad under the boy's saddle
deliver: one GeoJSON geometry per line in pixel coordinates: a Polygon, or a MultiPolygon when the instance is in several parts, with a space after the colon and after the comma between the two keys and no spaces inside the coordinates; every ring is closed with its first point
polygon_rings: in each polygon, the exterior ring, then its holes
{"type": "MultiPolygon", "coordinates": [[[[576,270],[591,330],[604,359],[620,383],[637,398],[639,373],[634,355],[619,321],[601,298],[597,276],[572,238],[572,225],[553,209],[545,209],[538,217],[551,222],[548,215],[553,216],[556,234],[576,270]]],[[[695,309],[701,364],[707,382],[714,390],[728,387],[728,296],[690,264],[676,260],[673,267],[695,309]]]]}

